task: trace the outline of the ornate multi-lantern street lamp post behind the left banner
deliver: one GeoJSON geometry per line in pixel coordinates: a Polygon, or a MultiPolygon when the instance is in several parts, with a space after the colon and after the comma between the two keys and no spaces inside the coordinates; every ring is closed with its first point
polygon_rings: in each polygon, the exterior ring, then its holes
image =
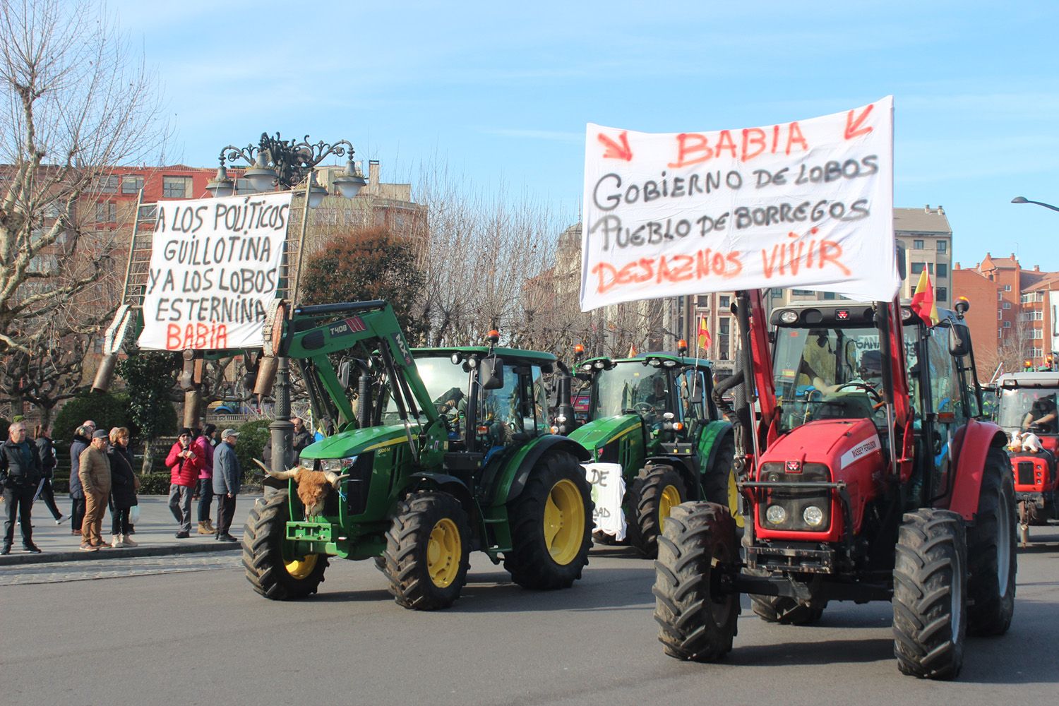
{"type": "MultiPolygon", "coordinates": [[[[244,178],[250,182],[254,192],[267,192],[271,189],[291,191],[295,196],[305,199],[302,210],[302,230],[299,237],[298,265],[294,268],[293,284],[288,279],[288,300],[290,307],[284,309],[284,315],[289,316],[289,310],[293,308],[294,297],[298,296],[298,287],[302,273],[302,254],[305,252],[305,233],[309,222],[309,209],[320,205],[327,189],[316,183],[315,167],[329,156],[346,157],[345,170],[331,180],[331,183],[339,189],[345,198],[353,198],[364,185],[364,177],[361,176],[356,165],[353,163],[354,149],[347,140],[340,140],[334,144],[323,141],[310,143],[309,137],[295,142],[293,140],[283,140],[280,133],[270,137],[263,132],[257,145],[247,145],[246,147],[235,147],[229,145],[220,150],[220,166],[217,168],[217,176],[207,184],[207,191],[212,196],[231,196],[235,193],[235,182],[228,176],[225,162],[234,163],[243,161],[251,165],[244,174],[244,178]],[[303,188],[304,183],[304,188],[303,188]],[[297,191],[295,191],[297,187],[297,191]]],[[[286,243],[286,240],[284,241],[286,243]]],[[[284,259],[289,266],[290,253],[284,249],[284,259]]],[[[282,267],[282,264],[281,264],[282,267]]],[[[288,267],[288,277],[290,268],[288,267]]],[[[280,351],[276,351],[277,354],[280,351]]],[[[284,471],[290,460],[288,453],[291,450],[291,433],[294,426],[290,422],[290,361],[286,356],[276,356],[275,370],[275,405],[273,406],[274,419],[269,424],[269,433],[272,437],[272,470],[284,471]]]]}

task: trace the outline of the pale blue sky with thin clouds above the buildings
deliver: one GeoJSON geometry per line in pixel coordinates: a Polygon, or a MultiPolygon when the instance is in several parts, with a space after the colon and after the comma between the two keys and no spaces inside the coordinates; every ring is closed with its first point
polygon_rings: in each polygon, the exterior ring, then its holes
{"type": "Polygon", "coordinates": [[[895,205],[954,259],[1059,270],[1054,2],[111,0],[158,73],[168,161],[262,131],[348,139],[384,181],[443,165],[578,218],[585,124],[740,128],[895,96],[895,205]]]}

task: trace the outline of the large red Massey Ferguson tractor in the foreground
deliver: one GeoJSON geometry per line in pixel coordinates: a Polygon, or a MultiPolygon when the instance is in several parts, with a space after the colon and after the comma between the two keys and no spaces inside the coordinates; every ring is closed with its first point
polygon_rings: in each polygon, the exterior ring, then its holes
{"type": "Polygon", "coordinates": [[[728,653],[741,593],[794,624],[886,600],[898,668],[955,677],[966,634],[1007,631],[1016,576],[1007,438],[981,419],[966,301],[934,326],[896,300],[813,302],[773,311],[772,333],[760,292],[737,302],[742,551],[726,507],[672,510],[653,589],[665,652],[728,653]]]}

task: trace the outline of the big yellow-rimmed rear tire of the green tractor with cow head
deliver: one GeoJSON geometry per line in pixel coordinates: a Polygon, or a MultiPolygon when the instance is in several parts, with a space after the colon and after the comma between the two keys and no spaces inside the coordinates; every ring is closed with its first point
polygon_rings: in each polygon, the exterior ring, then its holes
{"type": "Polygon", "coordinates": [[[544,455],[507,504],[511,550],[504,568],[525,589],[568,589],[581,578],[592,548],[592,488],[566,451],[544,455]]]}

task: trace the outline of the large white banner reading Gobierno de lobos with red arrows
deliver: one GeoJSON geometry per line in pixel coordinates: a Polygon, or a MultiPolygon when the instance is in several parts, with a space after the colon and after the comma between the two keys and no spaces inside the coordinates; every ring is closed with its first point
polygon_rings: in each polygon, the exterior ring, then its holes
{"type": "Polygon", "coordinates": [[[892,300],[894,102],[783,125],[589,124],[581,309],[784,288],[892,300]]]}

